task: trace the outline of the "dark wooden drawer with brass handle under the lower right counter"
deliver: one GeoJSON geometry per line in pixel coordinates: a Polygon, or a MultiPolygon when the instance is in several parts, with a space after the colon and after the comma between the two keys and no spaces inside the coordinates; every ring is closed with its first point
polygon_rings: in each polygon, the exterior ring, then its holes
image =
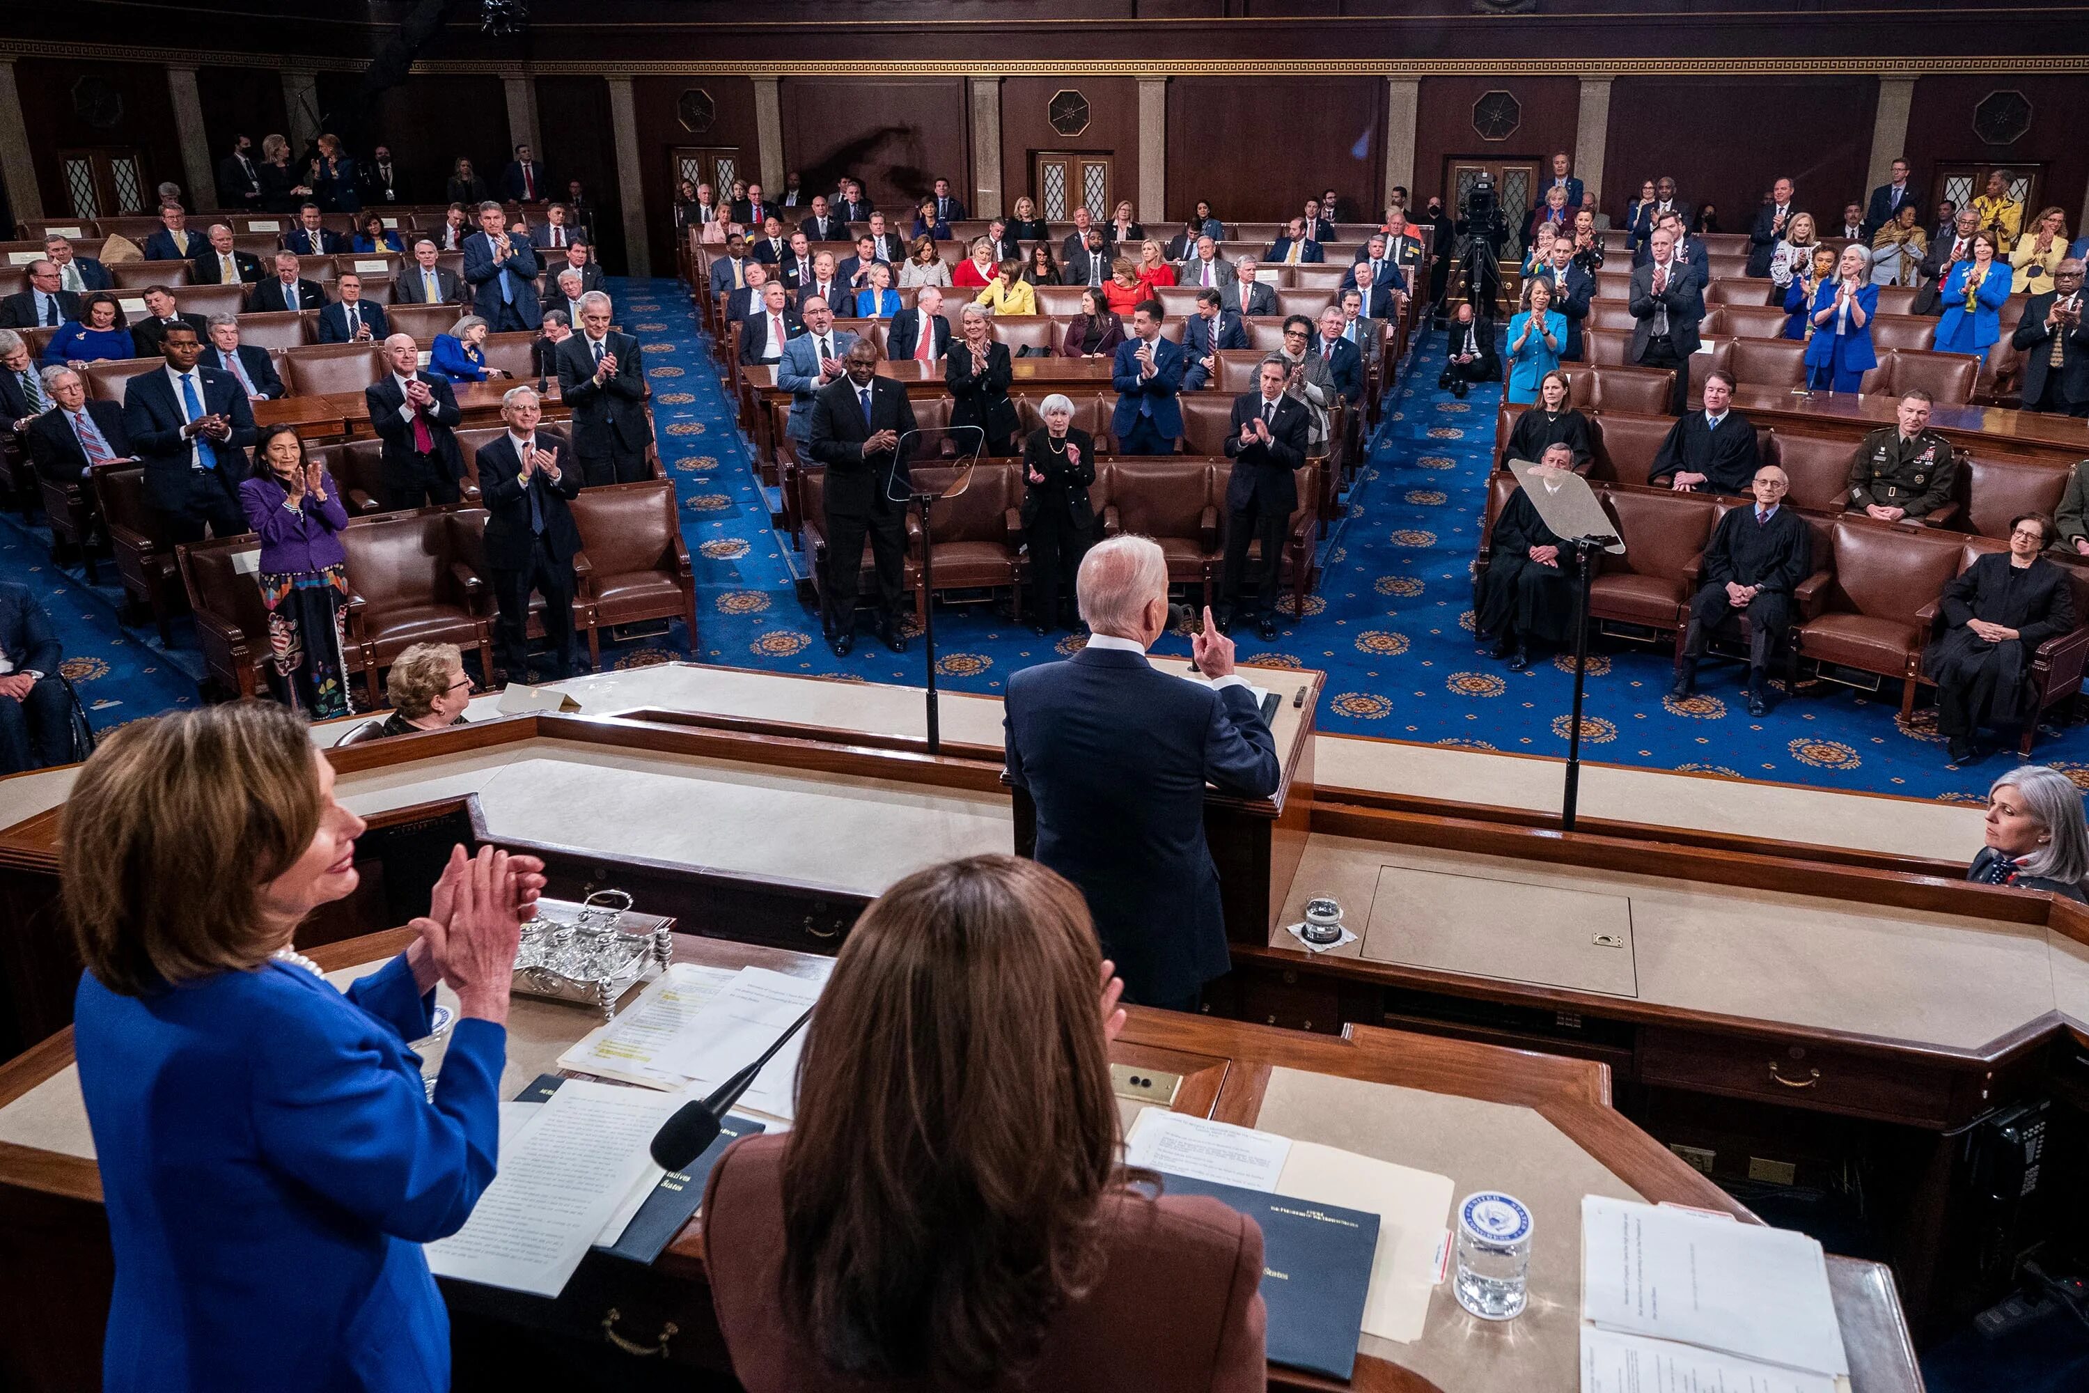
{"type": "Polygon", "coordinates": [[[1638,1067],[1642,1084],[1876,1117],[1918,1128],[1947,1128],[1959,1122],[1957,1101],[1968,1084],[1978,1099],[1978,1078],[1820,1046],[1797,1036],[1782,1040],[1740,1038],[1644,1028],[1638,1067]]]}

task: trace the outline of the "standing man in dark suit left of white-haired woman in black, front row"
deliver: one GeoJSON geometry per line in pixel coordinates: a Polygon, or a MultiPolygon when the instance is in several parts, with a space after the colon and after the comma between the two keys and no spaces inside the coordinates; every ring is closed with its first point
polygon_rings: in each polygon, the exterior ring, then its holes
{"type": "Polygon", "coordinates": [[[827,574],[821,587],[821,627],[836,658],[856,645],[856,587],[863,579],[863,539],[871,539],[877,570],[877,639],[894,654],[907,652],[900,633],[900,583],[907,551],[907,453],[915,430],[907,388],[877,376],[877,349],[859,338],[844,355],[844,376],[813,395],[813,430],[806,453],[825,466],[827,574]],[[905,445],[902,445],[905,441],[905,445]]]}

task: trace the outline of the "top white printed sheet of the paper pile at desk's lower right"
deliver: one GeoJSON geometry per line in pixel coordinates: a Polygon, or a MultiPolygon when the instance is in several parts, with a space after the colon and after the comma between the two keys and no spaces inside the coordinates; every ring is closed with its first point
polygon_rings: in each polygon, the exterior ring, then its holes
{"type": "Polygon", "coordinates": [[[1586,1195],[1581,1318],[1817,1376],[1849,1374],[1822,1245],[1784,1228],[1586,1195]]]}

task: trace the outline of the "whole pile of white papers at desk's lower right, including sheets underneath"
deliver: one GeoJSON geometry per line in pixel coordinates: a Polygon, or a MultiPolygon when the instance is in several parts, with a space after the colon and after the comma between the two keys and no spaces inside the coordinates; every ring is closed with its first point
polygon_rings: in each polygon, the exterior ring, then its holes
{"type": "Polygon", "coordinates": [[[1581,1199],[1581,1393],[1836,1393],[1849,1355],[1813,1238],[1581,1199]]]}

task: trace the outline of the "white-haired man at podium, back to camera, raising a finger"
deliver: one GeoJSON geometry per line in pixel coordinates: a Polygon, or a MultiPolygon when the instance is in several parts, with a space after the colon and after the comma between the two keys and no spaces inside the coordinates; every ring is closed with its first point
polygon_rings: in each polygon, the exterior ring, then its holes
{"type": "Polygon", "coordinates": [[[1086,896],[1126,1000],[1195,1011],[1203,984],[1230,967],[1205,785],[1268,798],[1283,777],[1276,741],[1210,610],[1191,660],[1212,685],[1147,662],[1168,631],[1159,545],[1090,547],[1076,589],[1088,645],[1009,677],[1009,781],[1036,806],[1038,863],[1086,896]]]}

